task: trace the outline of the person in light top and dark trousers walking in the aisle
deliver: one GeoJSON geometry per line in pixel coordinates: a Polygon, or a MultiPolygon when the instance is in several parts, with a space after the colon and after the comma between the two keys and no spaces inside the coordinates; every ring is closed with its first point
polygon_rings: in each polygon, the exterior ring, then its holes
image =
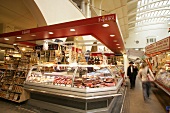
{"type": "Polygon", "coordinates": [[[138,72],[138,77],[142,81],[144,101],[148,101],[149,96],[150,96],[151,83],[148,79],[148,74],[150,74],[152,76],[152,78],[154,78],[152,72],[149,71],[149,67],[148,67],[147,63],[144,62],[141,64],[141,69],[138,72]]]}

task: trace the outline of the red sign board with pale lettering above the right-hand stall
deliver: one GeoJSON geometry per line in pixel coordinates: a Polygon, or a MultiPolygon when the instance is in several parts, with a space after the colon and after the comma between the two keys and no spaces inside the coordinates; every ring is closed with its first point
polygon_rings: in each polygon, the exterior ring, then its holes
{"type": "Polygon", "coordinates": [[[169,38],[170,37],[162,39],[162,40],[160,40],[154,44],[151,44],[149,46],[146,46],[146,48],[145,48],[146,54],[152,54],[152,53],[156,53],[156,52],[169,50],[170,49],[169,38]]]}

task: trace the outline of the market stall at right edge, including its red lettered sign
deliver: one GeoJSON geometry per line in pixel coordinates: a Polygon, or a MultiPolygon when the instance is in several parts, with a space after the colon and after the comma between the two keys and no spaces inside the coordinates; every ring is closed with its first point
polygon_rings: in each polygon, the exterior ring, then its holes
{"type": "Polygon", "coordinates": [[[170,95],[170,37],[164,38],[146,47],[152,71],[155,73],[155,84],[170,95]]]}

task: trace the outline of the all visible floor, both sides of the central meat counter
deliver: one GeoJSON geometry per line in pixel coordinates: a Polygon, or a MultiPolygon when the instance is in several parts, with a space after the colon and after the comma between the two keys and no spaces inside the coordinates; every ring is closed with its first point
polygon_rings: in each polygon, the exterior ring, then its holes
{"type": "MultiPolygon", "coordinates": [[[[159,96],[160,91],[152,89],[151,100],[149,102],[144,102],[142,95],[142,86],[139,80],[136,80],[135,89],[127,88],[126,97],[124,101],[124,109],[122,113],[166,113],[165,104],[170,104],[170,102],[165,102],[161,96],[159,96]],[[155,96],[156,95],[156,96],[155,96]],[[159,101],[158,101],[159,100],[159,101]],[[162,101],[160,103],[160,100],[162,101]],[[163,107],[162,107],[163,106],[163,107]]],[[[165,97],[163,97],[165,99],[165,97]]],[[[169,97],[168,97],[169,98],[169,97]]],[[[0,113],[52,113],[47,110],[42,110],[32,106],[28,106],[26,103],[16,104],[10,101],[0,99],[0,113]]]]}

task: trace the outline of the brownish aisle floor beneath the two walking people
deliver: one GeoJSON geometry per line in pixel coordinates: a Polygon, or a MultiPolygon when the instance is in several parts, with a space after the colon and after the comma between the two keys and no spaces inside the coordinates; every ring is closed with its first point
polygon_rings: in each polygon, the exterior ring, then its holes
{"type": "Polygon", "coordinates": [[[162,107],[153,91],[151,91],[151,100],[144,102],[142,85],[138,79],[136,80],[136,87],[127,90],[125,108],[123,113],[166,113],[165,108],[162,107]]]}

